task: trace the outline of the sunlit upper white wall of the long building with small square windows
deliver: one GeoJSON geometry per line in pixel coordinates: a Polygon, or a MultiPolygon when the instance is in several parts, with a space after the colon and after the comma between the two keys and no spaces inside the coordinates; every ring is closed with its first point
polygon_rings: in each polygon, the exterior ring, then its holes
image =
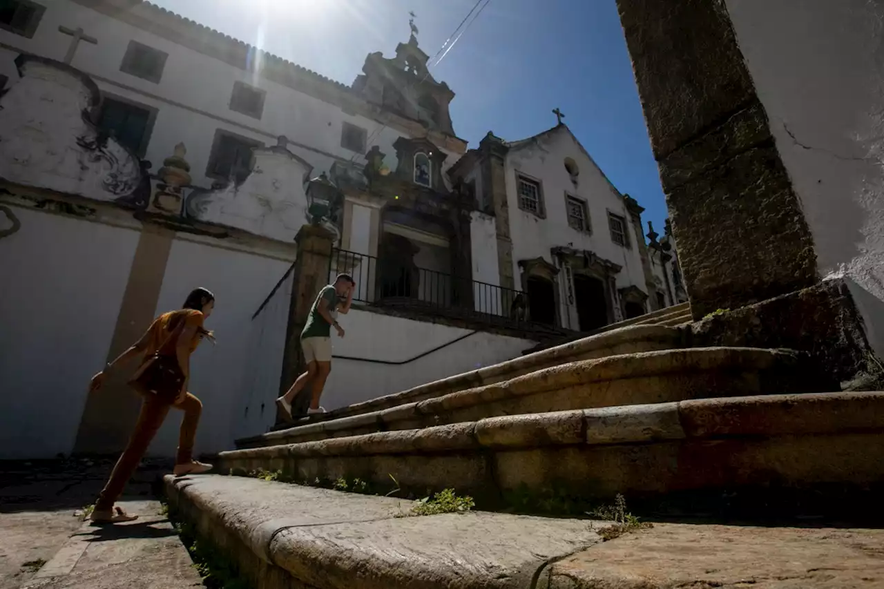
{"type": "MultiPolygon", "coordinates": [[[[355,157],[356,162],[364,161],[364,154],[354,154],[340,147],[341,128],[345,121],[367,129],[369,137],[380,130],[371,144],[377,144],[387,154],[386,164],[395,169],[392,143],[402,133],[391,127],[382,128],[377,121],[347,114],[313,96],[263,80],[259,75],[246,73],[69,0],[43,4],[47,9],[32,39],[0,30],[0,42],[61,60],[70,46],[71,36],[59,33],[59,25],[82,27],[86,34],[98,39],[97,45],[81,42],[72,65],[88,73],[103,92],[158,109],[146,156],[153,162],[155,172],[163,159],[171,156],[175,144],[184,142],[194,184],[209,187],[211,180],[204,174],[215,131],[223,128],[267,145],[275,145],[281,134],[307,145],[309,149],[297,146],[289,149],[312,164],[314,175],[318,175],[328,171],[335,159],[349,161],[355,157]],[[158,84],[119,71],[131,40],[169,54],[158,84]],[[233,83],[237,80],[267,91],[261,120],[229,109],[233,83]]],[[[11,63],[15,55],[11,50],[0,51],[0,73],[9,75],[11,83],[17,79],[11,63]]],[[[362,55],[353,56],[359,62],[364,58],[362,55]]],[[[456,155],[449,156],[444,170],[457,159],[456,155]]]]}

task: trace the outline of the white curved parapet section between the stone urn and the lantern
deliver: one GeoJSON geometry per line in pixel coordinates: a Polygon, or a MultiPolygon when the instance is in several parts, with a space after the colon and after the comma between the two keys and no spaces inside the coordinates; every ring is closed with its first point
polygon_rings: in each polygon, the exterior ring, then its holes
{"type": "Polygon", "coordinates": [[[187,197],[187,217],[292,241],[309,220],[304,183],[312,166],[286,149],[286,143],[280,137],[274,147],[255,149],[252,170],[242,184],[194,191],[187,197]]]}

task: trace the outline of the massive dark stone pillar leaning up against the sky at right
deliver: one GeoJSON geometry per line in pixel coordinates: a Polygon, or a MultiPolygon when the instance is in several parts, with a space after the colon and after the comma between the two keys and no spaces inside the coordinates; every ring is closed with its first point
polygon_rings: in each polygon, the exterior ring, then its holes
{"type": "Polygon", "coordinates": [[[819,282],[720,0],[617,0],[695,319],[819,282]]]}

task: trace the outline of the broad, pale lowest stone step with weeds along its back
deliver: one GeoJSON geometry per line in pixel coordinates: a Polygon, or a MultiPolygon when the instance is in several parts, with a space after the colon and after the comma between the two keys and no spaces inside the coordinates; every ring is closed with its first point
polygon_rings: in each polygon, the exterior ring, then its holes
{"type": "MultiPolygon", "coordinates": [[[[201,544],[262,589],[848,589],[884,578],[884,531],[607,524],[469,512],[240,477],[165,479],[201,544]]],[[[66,585],[65,585],[66,586],[66,585]]]]}

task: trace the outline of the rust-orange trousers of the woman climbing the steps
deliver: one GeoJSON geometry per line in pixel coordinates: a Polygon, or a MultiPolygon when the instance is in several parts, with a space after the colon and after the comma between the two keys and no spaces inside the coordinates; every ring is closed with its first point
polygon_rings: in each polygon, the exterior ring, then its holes
{"type": "Polygon", "coordinates": [[[169,409],[174,407],[184,411],[184,419],[181,420],[181,429],[178,438],[178,456],[176,464],[187,464],[194,457],[194,438],[196,438],[196,426],[200,423],[202,402],[193,394],[187,393],[183,401],[170,405],[168,402],[160,402],[154,395],[148,395],[141,403],[141,413],[135,423],[132,437],[123,454],[120,455],[117,465],[110,473],[110,480],[98,495],[95,509],[108,510],[123,493],[123,487],[132,478],[141,458],[148,451],[151,440],[156,436],[156,431],[163,425],[169,409]]]}

